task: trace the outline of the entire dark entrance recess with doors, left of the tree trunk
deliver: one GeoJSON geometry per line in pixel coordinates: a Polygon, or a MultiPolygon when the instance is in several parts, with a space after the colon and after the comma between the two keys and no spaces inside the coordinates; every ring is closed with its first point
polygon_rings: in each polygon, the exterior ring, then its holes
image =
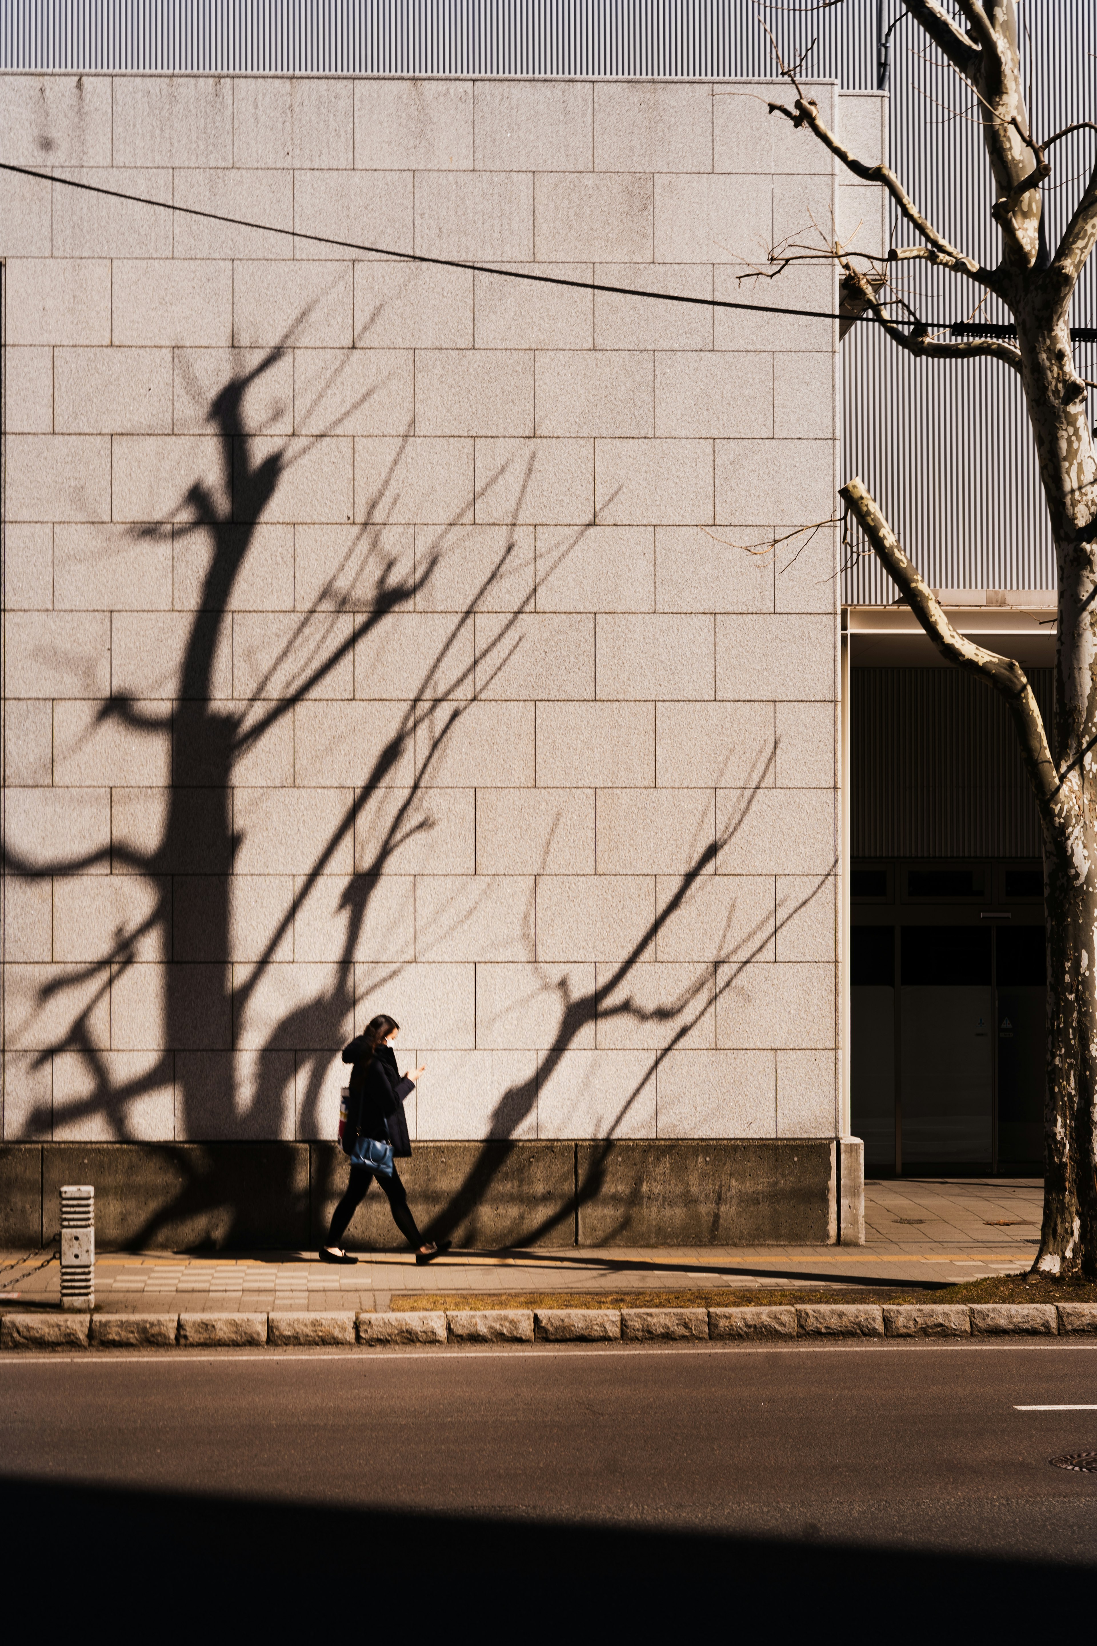
{"type": "MultiPolygon", "coordinates": [[[[1051,670],[1028,675],[1048,719],[1051,670]]],[[[954,668],[850,668],[849,820],[865,1167],[1039,1175],[1039,823],[997,693],[954,668]]]]}

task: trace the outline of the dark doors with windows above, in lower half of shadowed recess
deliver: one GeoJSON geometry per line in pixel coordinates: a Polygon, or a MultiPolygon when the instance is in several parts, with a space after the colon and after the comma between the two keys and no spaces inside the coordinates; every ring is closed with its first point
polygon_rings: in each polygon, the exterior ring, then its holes
{"type": "Polygon", "coordinates": [[[878,1174],[1039,1175],[1043,872],[854,864],[852,1123],[878,1174]]]}

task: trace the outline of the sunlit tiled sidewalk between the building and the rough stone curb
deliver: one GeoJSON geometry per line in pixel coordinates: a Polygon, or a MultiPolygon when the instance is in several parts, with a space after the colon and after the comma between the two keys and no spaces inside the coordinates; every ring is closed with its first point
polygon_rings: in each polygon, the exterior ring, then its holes
{"type": "MultiPolygon", "coordinates": [[[[457,1251],[428,1267],[411,1253],[363,1253],[334,1269],[314,1253],[178,1256],[107,1253],[95,1304],[110,1310],[201,1312],[388,1309],[393,1292],[651,1290],[959,1281],[1025,1269],[1039,1236],[1033,1179],[890,1180],[865,1185],[865,1246],[692,1246],[579,1251],[457,1251]]],[[[7,1266],[18,1254],[2,1261],[7,1266]]],[[[31,1259],[38,1261],[38,1259],[31,1259]]],[[[0,1302],[59,1295],[56,1262],[0,1274],[0,1302]],[[23,1277],[25,1276],[25,1277],[23,1277]]]]}

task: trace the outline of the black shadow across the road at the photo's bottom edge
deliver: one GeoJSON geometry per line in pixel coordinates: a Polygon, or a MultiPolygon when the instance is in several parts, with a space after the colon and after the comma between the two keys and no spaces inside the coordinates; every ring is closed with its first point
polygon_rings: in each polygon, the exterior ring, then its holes
{"type": "Polygon", "coordinates": [[[1054,1598],[1064,1623],[1074,1605],[1092,1600],[1092,1567],[865,1549],[824,1542],[812,1524],[801,1539],[742,1537],[23,1480],[0,1483],[0,1508],[7,1526],[30,1532],[18,1587],[38,1592],[46,1613],[69,1527],[79,1529],[86,1605],[107,1582],[115,1605],[137,1618],[146,1602],[160,1611],[173,1592],[183,1600],[183,1583],[189,1603],[176,1616],[187,1634],[211,1631],[214,1618],[222,1634],[230,1616],[258,1623],[271,1608],[278,1634],[298,1611],[312,1626],[327,1618],[339,1628],[350,1606],[373,1630],[378,1618],[414,1628],[429,1605],[442,1628],[462,1633],[464,1615],[464,1626],[488,1639],[503,1628],[518,1639],[586,1633],[610,1620],[617,1638],[638,1626],[648,1639],[661,1625],[678,1633],[692,1623],[706,1634],[715,1625],[722,1634],[732,1620],[740,1628],[766,1620],[766,1633],[781,1639],[793,1630],[814,1634],[826,1618],[863,1628],[873,1615],[888,1618],[890,1639],[913,1639],[947,1605],[949,1638],[977,1625],[985,1639],[1007,1620],[1016,1626],[1030,1597],[1054,1598]],[[867,1610],[877,1606],[886,1610],[867,1610]]]}

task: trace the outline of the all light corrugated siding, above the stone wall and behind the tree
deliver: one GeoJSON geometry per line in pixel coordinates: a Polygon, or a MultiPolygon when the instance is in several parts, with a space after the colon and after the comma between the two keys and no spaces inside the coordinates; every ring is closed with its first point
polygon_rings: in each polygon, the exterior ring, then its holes
{"type": "MultiPolygon", "coordinates": [[[[1094,114],[1097,0],[1018,0],[1031,114],[1049,135],[1094,114]]],[[[227,74],[773,76],[761,20],[808,77],[877,87],[878,41],[895,25],[888,91],[891,160],[942,232],[997,258],[990,181],[970,94],[900,0],[821,10],[791,0],[7,0],[0,66],[227,74]]],[[[1092,158],[1094,133],[1054,150],[1044,191],[1051,235],[1092,158]]],[[[913,239],[893,222],[895,244],[913,239]]],[[[918,311],[949,324],[975,291],[901,265],[918,311]]],[[[1097,324],[1090,260],[1074,323],[1097,324]]],[[[1084,377],[1097,347],[1076,344],[1084,377]]],[[[1054,555],[1025,407],[993,360],[911,360],[868,326],[842,352],[842,472],[860,472],[936,588],[1053,588],[1054,555]]],[[[854,553],[842,597],[888,602],[872,555],[854,553]]]]}

